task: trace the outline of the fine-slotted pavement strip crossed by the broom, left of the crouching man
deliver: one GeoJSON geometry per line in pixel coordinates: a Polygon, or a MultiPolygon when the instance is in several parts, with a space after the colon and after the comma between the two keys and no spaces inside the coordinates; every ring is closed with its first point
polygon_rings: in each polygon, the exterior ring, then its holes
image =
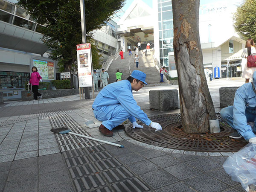
{"type": "MultiPolygon", "coordinates": [[[[66,112],[49,112],[48,116],[52,124],[52,128],[67,127],[71,129],[73,133],[90,137],[90,135],[84,131],[84,129],[81,128],[79,124],[77,124],[69,115],[67,115],[66,112]]],[[[99,143],[96,141],[71,134],[55,134],[55,137],[62,152],[99,145],[99,143]]]]}

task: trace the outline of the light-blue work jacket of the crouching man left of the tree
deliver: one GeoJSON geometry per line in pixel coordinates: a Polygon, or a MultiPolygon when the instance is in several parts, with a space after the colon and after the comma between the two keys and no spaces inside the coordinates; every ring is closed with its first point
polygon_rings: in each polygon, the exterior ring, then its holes
{"type": "Polygon", "coordinates": [[[117,81],[104,87],[93,102],[93,109],[98,111],[104,108],[106,116],[108,116],[111,115],[116,104],[121,104],[131,114],[131,117],[128,118],[131,122],[135,122],[135,118],[137,118],[145,125],[150,125],[151,120],[134,100],[131,83],[128,80],[117,81]]]}

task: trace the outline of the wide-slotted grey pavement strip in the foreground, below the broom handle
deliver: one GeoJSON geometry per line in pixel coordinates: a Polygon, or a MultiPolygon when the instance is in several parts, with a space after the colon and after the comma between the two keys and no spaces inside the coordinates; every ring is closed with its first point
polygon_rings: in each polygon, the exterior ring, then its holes
{"type": "Polygon", "coordinates": [[[147,192],[151,189],[101,145],[62,153],[77,192],[147,192]]]}

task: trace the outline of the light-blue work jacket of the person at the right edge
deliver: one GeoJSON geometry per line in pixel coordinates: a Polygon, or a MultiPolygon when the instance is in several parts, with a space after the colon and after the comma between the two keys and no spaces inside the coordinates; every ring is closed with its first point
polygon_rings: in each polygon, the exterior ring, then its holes
{"type": "Polygon", "coordinates": [[[235,129],[239,130],[245,140],[255,137],[253,129],[250,125],[247,125],[245,116],[245,111],[254,113],[256,116],[256,94],[251,83],[243,84],[236,90],[233,106],[233,125],[235,129]]]}

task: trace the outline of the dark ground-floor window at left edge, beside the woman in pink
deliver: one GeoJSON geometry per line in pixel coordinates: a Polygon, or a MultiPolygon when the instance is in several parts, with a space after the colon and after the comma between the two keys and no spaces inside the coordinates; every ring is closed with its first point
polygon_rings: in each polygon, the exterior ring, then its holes
{"type": "Polygon", "coordinates": [[[29,73],[0,71],[0,88],[23,88],[29,81],[29,73]]]}

